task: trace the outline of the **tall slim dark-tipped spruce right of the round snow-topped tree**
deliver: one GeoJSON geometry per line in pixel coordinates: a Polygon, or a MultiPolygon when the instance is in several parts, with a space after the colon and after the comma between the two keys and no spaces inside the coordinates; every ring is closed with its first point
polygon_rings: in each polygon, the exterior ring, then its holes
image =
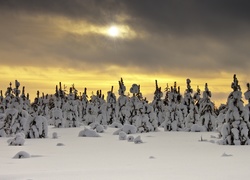
{"type": "Polygon", "coordinates": [[[163,93],[161,91],[161,87],[158,87],[158,82],[155,80],[154,100],[152,101],[151,106],[156,113],[158,125],[164,122],[164,103],[161,99],[162,97],[163,93]]]}

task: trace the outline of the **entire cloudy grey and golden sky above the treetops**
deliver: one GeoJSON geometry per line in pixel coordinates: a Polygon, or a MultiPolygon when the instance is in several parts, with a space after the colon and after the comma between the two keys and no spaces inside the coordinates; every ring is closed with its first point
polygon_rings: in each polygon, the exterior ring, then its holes
{"type": "MultiPolygon", "coordinates": [[[[88,94],[122,77],[152,100],[155,80],[226,103],[233,75],[250,75],[249,1],[0,0],[0,89],[17,79],[31,98],[58,82],[88,94]],[[109,34],[116,27],[116,35],[109,34]]],[[[118,95],[117,95],[118,96],[118,95]]],[[[244,99],[244,96],[243,96],[244,99]]]]}

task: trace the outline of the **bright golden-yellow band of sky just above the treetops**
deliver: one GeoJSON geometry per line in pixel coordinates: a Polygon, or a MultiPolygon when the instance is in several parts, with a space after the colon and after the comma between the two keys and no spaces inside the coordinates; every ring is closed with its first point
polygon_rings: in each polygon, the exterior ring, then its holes
{"type": "MultiPolygon", "coordinates": [[[[133,71],[132,67],[129,68],[130,71],[133,71]]],[[[136,72],[134,70],[133,72],[136,72]]],[[[204,84],[207,82],[209,90],[212,92],[211,100],[216,103],[217,106],[220,103],[226,103],[226,98],[231,92],[230,84],[232,81],[232,75],[230,74],[221,74],[218,79],[202,79],[202,78],[190,78],[191,86],[196,92],[197,85],[201,92],[204,91],[204,84]]],[[[177,86],[181,87],[181,94],[184,94],[186,89],[186,78],[182,77],[173,77],[167,74],[147,74],[147,73],[129,73],[126,72],[126,69],[118,66],[111,66],[107,68],[107,73],[99,72],[98,70],[92,71],[77,71],[74,69],[61,69],[61,68],[37,68],[37,67],[1,67],[1,76],[0,76],[0,90],[3,90],[5,93],[6,88],[9,86],[9,82],[14,84],[14,81],[17,79],[21,83],[21,87],[26,87],[26,93],[30,94],[31,100],[33,101],[36,96],[37,90],[45,94],[54,94],[55,86],[59,82],[62,82],[62,85],[66,85],[67,89],[75,85],[79,92],[82,92],[86,87],[88,90],[88,95],[91,93],[96,93],[97,90],[102,90],[103,94],[107,95],[107,91],[110,90],[111,86],[114,86],[114,92],[118,97],[118,81],[120,78],[123,78],[125,86],[127,87],[126,94],[129,93],[129,89],[132,84],[136,83],[141,86],[141,92],[144,97],[147,97],[149,101],[152,101],[153,94],[155,91],[155,80],[158,81],[159,87],[162,87],[162,91],[168,83],[169,87],[173,86],[174,82],[177,82],[177,86]],[[110,74],[112,72],[119,72],[116,74],[110,74]],[[101,75],[100,75],[101,74],[101,75]],[[6,78],[8,77],[8,79],[6,78]]],[[[243,82],[239,78],[239,83],[241,86],[244,86],[243,82]]],[[[242,92],[244,93],[244,87],[242,87],[242,92]]],[[[164,93],[165,94],[165,93],[164,93]]],[[[243,97],[244,100],[244,97],[243,97]]]]}

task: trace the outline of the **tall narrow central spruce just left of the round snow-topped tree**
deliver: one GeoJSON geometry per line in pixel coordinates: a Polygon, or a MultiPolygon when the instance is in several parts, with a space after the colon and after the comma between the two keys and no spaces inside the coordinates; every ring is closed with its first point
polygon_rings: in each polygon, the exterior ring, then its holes
{"type": "Polygon", "coordinates": [[[123,79],[119,81],[119,98],[116,103],[116,121],[117,123],[124,124],[127,118],[127,108],[126,104],[128,102],[128,97],[125,95],[126,86],[124,85],[123,79]]]}

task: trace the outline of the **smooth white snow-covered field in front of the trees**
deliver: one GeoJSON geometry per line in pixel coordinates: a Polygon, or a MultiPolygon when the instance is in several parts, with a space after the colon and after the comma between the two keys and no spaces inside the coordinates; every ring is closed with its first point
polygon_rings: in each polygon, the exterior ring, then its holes
{"type": "Polygon", "coordinates": [[[134,134],[143,143],[119,140],[108,128],[101,137],[78,137],[83,127],[49,127],[46,139],[9,146],[0,138],[0,179],[248,179],[250,146],[218,145],[215,132],[134,134]],[[52,138],[57,132],[58,139],[52,138]],[[201,137],[203,141],[201,141],[201,137]],[[58,144],[61,143],[61,146],[58,144]],[[20,151],[30,158],[14,159],[20,151]]]}

